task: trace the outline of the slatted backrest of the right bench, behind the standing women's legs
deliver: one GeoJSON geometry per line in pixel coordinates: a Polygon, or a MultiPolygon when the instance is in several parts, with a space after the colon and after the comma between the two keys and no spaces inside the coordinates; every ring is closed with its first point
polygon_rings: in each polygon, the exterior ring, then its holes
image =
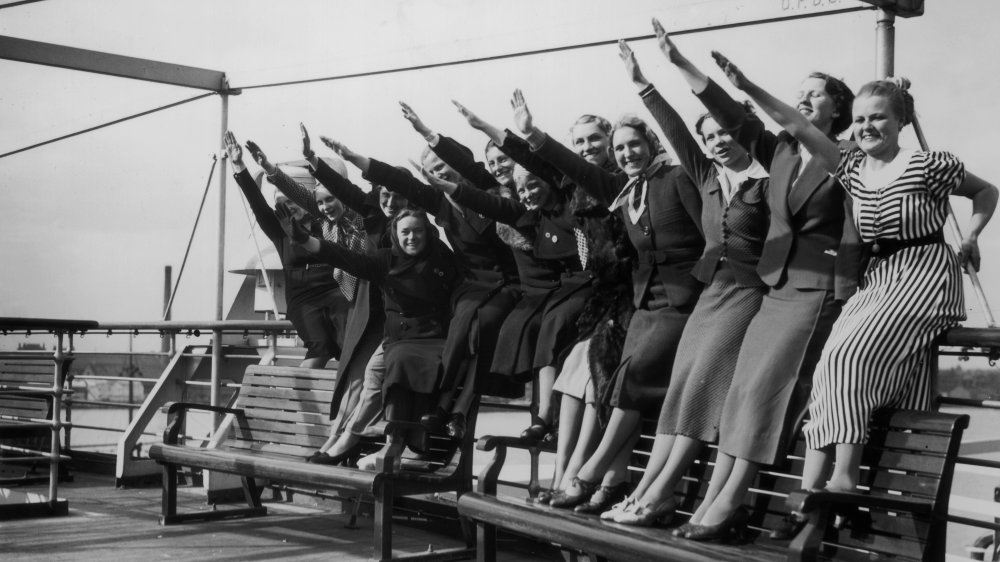
{"type": "MultiPolygon", "coordinates": [[[[933,505],[931,513],[914,517],[871,508],[870,528],[863,533],[845,530],[828,536],[825,554],[837,560],[869,560],[879,555],[900,560],[943,559],[954,461],[968,422],[968,416],[940,412],[877,412],[862,458],[861,487],[874,496],[928,500],[933,505]]],[[[655,429],[655,420],[643,420],[630,466],[633,482],[642,476],[655,429]]],[[[804,453],[805,440],[798,431],[787,457],[760,471],[745,503],[751,510],[752,528],[771,529],[788,512],[785,498],[802,487],[804,453]]],[[[678,511],[690,513],[704,498],[715,456],[715,446],[706,447],[684,476],[675,492],[678,511]]]]}

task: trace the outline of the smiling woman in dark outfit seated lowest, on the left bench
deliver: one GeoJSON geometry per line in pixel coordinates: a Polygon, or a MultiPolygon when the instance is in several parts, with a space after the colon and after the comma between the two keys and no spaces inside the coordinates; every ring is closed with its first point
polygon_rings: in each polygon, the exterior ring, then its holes
{"type": "MultiPolygon", "coordinates": [[[[389,225],[392,247],[360,254],[311,236],[287,212],[282,227],[311,254],[382,287],[385,303],[385,418],[417,421],[436,401],[441,379],[451,301],[461,275],[451,250],[423,211],[404,209],[389,225]]],[[[413,433],[412,449],[422,450],[423,437],[413,433]]]]}

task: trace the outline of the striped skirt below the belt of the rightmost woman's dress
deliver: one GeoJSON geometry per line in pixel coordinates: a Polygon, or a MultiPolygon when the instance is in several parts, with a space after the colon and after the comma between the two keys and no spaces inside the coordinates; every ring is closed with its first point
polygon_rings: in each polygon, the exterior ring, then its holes
{"type": "Polygon", "coordinates": [[[964,319],[961,268],[944,243],[872,260],[823,349],[809,448],[867,442],[879,408],[929,408],[934,340],[964,319]]]}

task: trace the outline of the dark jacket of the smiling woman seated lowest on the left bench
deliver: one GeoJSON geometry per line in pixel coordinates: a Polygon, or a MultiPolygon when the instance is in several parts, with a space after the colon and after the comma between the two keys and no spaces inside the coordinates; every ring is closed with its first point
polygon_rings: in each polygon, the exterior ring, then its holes
{"type": "Polygon", "coordinates": [[[358,254],[320,240],[319,257],[361,279],[379,283],[385,302],[385,341],[444,338],[451,300],[461,282],[454,255],[439,240],[429,240],[422,256],[379,249],[358,254]]]}

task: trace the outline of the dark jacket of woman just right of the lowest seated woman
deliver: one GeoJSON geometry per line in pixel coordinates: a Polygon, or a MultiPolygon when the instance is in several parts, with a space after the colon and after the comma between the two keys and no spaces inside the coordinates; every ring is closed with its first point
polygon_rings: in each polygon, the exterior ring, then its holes
{"type": "MultiPolygon", "coordinates": [[[[444,137],[439,144],[443,142],[444,137]]],[[[365,178],[388,187],[406,197],[410,204],[434,215],[435,222],[448,235],[459,264],[473,277],[476,277],[478,270],[500,273],[508,281],[517,278],[514,256],[497,236],[496,222],[493,219],[471,210],[459,210],[441,191],[375,159],[371,160],[365,178]]]]}

